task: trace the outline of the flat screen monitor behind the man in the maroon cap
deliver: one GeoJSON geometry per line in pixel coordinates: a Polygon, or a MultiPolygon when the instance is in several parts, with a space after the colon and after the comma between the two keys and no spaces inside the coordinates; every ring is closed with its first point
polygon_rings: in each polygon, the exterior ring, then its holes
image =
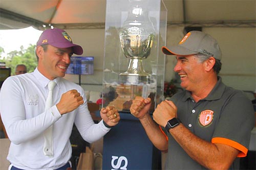
{"type": "Polygon", "coordinates": [[[92,75],[94,69],[94,57],[71,57],[66,74],[92,75]]]}

